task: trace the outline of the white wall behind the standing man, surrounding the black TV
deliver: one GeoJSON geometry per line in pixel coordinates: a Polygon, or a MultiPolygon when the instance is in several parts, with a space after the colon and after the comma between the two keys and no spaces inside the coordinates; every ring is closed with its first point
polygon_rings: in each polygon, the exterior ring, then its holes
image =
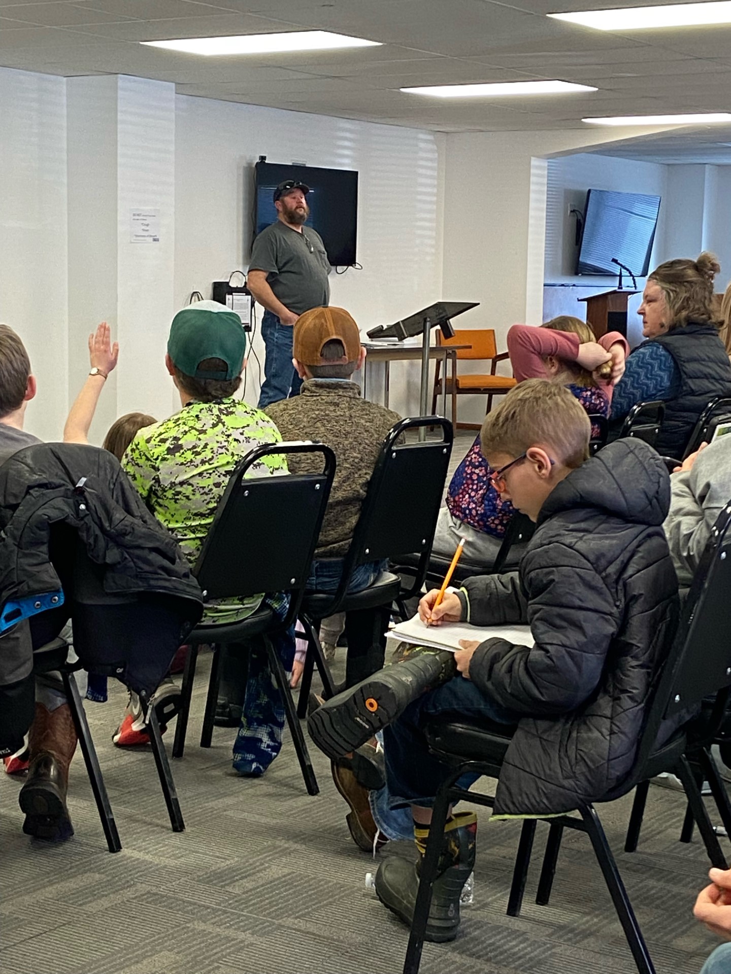
{"type": "MultiPolygon", "coordinates": [[[[248,267],[253,165],[260,155],[270,163],[359,170],[363,270],[333,271],[330,300],[347,308],[364,333],[439,299],[443,144],[434,132],[178,96],[176,306],[193,290],[211,297],[212,281],[248,267]]],[[[254,351],[263,363],[258,338],[254,351]]],[[[249,370],[246,397],[255,402],[259,376],[252,357],[249,370]]],[[[416,363],[392,366],[390,404],[402,414],[416,410],[418,374],[416,363]]]]}

